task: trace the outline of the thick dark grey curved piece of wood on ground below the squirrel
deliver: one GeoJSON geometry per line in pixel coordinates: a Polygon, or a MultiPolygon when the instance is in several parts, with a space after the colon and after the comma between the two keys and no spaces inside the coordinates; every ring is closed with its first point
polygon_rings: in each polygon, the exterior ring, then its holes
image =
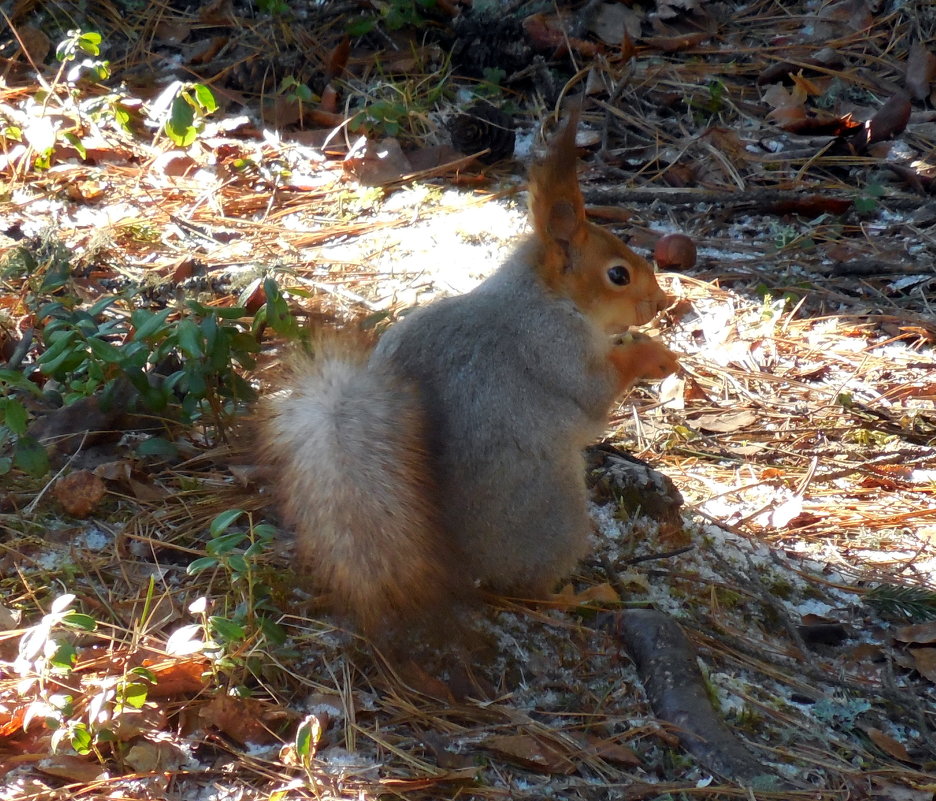
{"type": "Polygon", "coordinates": [[[675,620],[655,609],[627,609],[616,631],[637,665],[658,718],[677,727],[679,741],[713,773],[745,785],[785,789],[715,714],[695,649],[675,620]]]}

